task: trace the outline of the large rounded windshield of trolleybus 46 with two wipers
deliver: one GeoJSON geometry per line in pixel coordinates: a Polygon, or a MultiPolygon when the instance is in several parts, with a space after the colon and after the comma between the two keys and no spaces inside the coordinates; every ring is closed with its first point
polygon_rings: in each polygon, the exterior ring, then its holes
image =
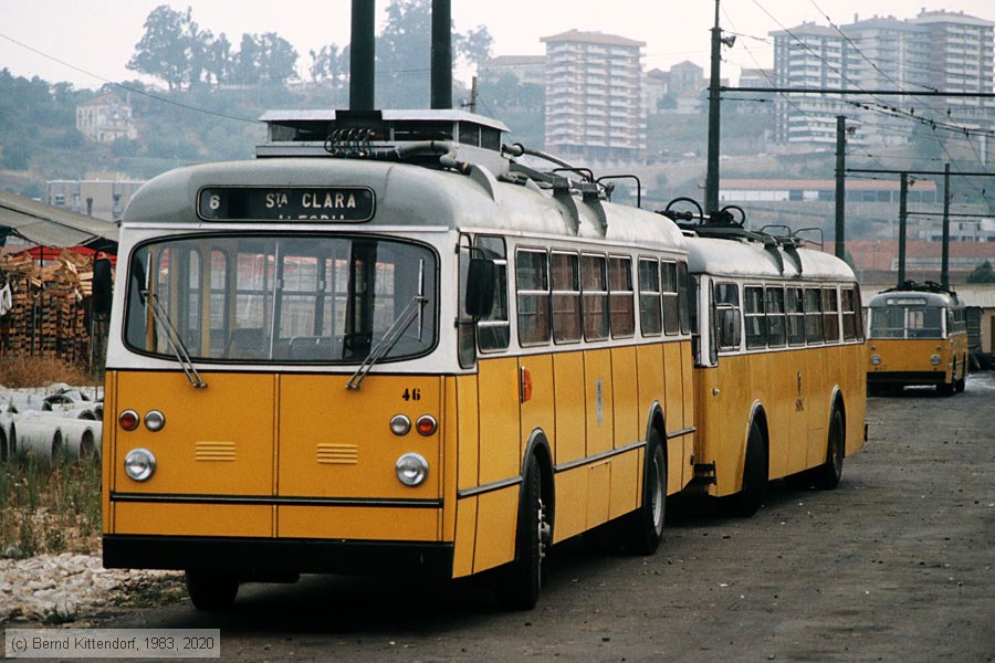
{"type": "Polygon", "coordinates": [[[421,297],[380,360],[425,355],[436,343],[436,264],[423,245],[369,236],[143,244],[129,264],[125,343],[175,357],[151,309],[158,301],[195,361],[359,364],[421,297]]]}

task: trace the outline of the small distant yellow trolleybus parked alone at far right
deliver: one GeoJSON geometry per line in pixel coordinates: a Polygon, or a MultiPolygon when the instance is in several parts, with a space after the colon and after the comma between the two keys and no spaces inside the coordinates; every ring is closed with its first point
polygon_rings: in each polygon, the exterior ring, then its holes
{"type": "Polygon", "coordinates": [[[967,322],[955,292],[907,281],[874,295],[867,314],[872,393],[921,385],[935,385],[944,394],[964,391],[967,322]]]}

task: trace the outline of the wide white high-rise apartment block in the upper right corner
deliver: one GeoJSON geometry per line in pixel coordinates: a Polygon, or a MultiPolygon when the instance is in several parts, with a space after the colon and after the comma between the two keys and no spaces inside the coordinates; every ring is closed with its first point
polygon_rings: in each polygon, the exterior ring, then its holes
{"type": "MultiPolygon", "coordinates": [[[[771,35],[779,87],[995,90],[995,22],[963,12],[922,11],[907,20],[855,18],[853,23],[839,28],[805,23],[771,35]]],[[[910,139],[917,122],[991,125],[995,103],[972,97],[781,94],[776,99],[775,139],[831,145],[838,115],[847,116],[848,124],[857,127],[857,134],[848,139],[855,144],[901,144],[910,139]]]]}

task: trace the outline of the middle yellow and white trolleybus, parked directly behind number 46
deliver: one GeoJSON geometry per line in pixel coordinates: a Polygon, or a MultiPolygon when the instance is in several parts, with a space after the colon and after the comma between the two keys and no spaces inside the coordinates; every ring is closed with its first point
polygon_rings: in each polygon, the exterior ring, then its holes
{"type": "Polygon", "coordinates": [[[694,487],[726,497],[742,516],[756,512],[771,480],[835,488],[844,457],[866,439],[853,272],[796,233],[744,229],[735,206],[711,219],[700,208],[664,213],[689,234],[694,487]]]}

